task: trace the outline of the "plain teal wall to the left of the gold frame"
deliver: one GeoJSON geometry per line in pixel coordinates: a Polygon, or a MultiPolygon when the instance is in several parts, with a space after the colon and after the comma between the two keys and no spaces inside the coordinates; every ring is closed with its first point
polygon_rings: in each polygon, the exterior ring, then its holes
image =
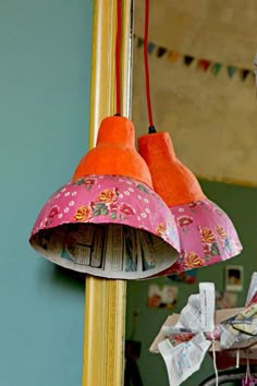
{"type": "Polygon", "coordinates": [[[84,280],[28,244],[87,149],[93,0],[0,2],[0,385],[77,386],[84,280]]]}

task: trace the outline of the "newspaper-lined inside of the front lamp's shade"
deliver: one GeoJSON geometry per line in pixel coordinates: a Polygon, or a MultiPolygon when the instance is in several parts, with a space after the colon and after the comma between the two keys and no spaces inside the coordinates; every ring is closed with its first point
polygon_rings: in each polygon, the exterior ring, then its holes
{"type": "Polygon", "coordinates": [[[53,263],[110,278],[145,278],[175,262],[168,243],[121,225],[64,225],[38,232],[33,246],[53,263]]]}

